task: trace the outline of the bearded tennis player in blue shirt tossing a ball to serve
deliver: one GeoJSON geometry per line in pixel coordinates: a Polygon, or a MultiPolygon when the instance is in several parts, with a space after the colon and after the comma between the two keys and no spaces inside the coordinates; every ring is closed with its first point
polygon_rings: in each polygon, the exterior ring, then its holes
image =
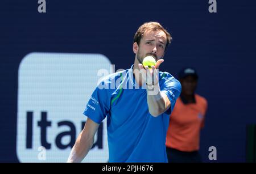
{"type": "Polygon", "coordinates": [[[107,117],[109,162],[168,162],[166,133],[181,84],[159,71],[171,35],[157,22],[142,24],[134,36],[134,65],[102,79],[90,97],[87,118],[68,162],[81,162],[107,117]],[[146,56],[155,66],[143,67],[146,56]],[[119,83],[118,83],[119,82],[119,83]],[[114,86],[114,87],[113,87],[114,86]]]}

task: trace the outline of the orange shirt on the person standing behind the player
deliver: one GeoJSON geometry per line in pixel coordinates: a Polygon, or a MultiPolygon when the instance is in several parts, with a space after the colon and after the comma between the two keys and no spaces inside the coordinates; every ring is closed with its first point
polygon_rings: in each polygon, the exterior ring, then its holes
{"type": "Polygon", "coordinates": [[[170,116],[166,146],[180,151],[199,150],[200,130],[204,126],[207,100],[195,94],[196,103],[184,104],[179,97],[170,116]]]}

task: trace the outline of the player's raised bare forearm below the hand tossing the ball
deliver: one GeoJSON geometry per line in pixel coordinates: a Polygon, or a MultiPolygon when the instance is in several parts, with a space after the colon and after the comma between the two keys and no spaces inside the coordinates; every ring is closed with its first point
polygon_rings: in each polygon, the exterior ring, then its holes
{"type": "Polygon", "coordinates": [[[166,101],[160,91],[159,84],[147,86],[148,111],[154,117],[159,116],[166,109],[166,101]]]}

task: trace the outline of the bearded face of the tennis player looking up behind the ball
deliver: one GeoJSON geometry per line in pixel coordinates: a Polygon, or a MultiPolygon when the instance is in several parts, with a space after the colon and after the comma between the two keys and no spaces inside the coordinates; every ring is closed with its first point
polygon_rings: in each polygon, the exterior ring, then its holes
{"type": "Polygon", "coordinates": [[[148,55],[155,57],[156,61],[159,60],[164,55],[166,43],[166,33],[164,33],[162,30],[144,32],[143,37],[138,45],[138,61],[142,63],[143,58],[148,55]]]}

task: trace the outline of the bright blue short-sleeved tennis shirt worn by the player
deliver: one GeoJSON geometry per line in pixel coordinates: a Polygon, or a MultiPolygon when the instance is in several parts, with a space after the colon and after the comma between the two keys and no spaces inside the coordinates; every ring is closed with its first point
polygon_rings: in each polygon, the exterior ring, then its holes
{"type": "Polygon", "coordinates": [[[108,75],[97,85],[84,115],[98,124],[107,117],[109,162],[168,162],[166,133],[181,85],[171,74],[159,71],[159,86],[171,107],[153,117],[148,111],[146,84],[139,87],[133,66],[108,75]]]}

